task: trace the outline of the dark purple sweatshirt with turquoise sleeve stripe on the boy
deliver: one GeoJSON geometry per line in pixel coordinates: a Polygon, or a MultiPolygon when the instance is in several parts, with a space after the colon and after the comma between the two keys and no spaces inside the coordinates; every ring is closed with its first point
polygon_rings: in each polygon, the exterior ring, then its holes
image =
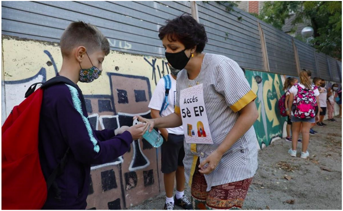
{"type": "Polygon", "coordinates": [[[86,106],[76,88],[58,84],[44,90],[39,123],[39,160],[47,179],[68,146],[67,164],[54,188],[48,191],[43,209],[86,209],[91,164],[110,162],[128,151],[132,143],[129,132],[115,136],[114,129],[95,131],[88,121],[86,106]]]}

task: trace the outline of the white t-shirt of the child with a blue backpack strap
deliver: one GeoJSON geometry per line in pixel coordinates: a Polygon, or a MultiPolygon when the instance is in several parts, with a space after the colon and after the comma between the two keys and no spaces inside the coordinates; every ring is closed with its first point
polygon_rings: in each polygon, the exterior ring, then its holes
{"type": "MultiPolygon", "coordinates": [[[[175,107],[175,99],[176,99],[176,80],[169,74],[170,80],[171,80],[171,87],[169,90],[168,95],[168,107],[167,109],[163,110],[161,113],[161,116],[168,116],[169,114],[174,113],[174,107],[175,107]]],[[[162,108],[162,103],[164,101],[166,95],[166,89],[165,89],[165,82],[164,79],[159,79],[154,94],[151,97],[149,108],[155,109],[160,111],[162,108]]],[[[182,126],[175,127],[175,128],[166,128],[168,133],[175,134],[175,135],[184,135],[184,129],[182,126]]]]}

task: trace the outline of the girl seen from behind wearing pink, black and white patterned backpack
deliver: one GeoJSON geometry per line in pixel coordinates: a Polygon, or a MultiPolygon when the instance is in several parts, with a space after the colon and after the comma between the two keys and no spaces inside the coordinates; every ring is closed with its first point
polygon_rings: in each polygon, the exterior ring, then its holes
{"type": "MultiPolygon", "coordinates": [[[[307,158],[309,152],[307,151],[311,123],[315,123],[315,107],[319,105],[319,91],[318,88],[311,85],[309,76],[306,71],[301,71],[299,74],[300,83],[295,84],[289,89],[288,108],[292,108],[292,148],[288,153],[292,157],[297,154],[297,140],[301,128],[303,134],[303,148],[300,158],[307,158]],[[317,104],[315,103],[317,101],[317,104]],[[293,106],[294,105],[294,106],[293,106]],[[293,107],[292,107],[293,106],[293,107]],[[302,126],[302,127],[301,127],[302,126]]],[[[319,118],[318,113],[316,118],[319,118]]]]}

